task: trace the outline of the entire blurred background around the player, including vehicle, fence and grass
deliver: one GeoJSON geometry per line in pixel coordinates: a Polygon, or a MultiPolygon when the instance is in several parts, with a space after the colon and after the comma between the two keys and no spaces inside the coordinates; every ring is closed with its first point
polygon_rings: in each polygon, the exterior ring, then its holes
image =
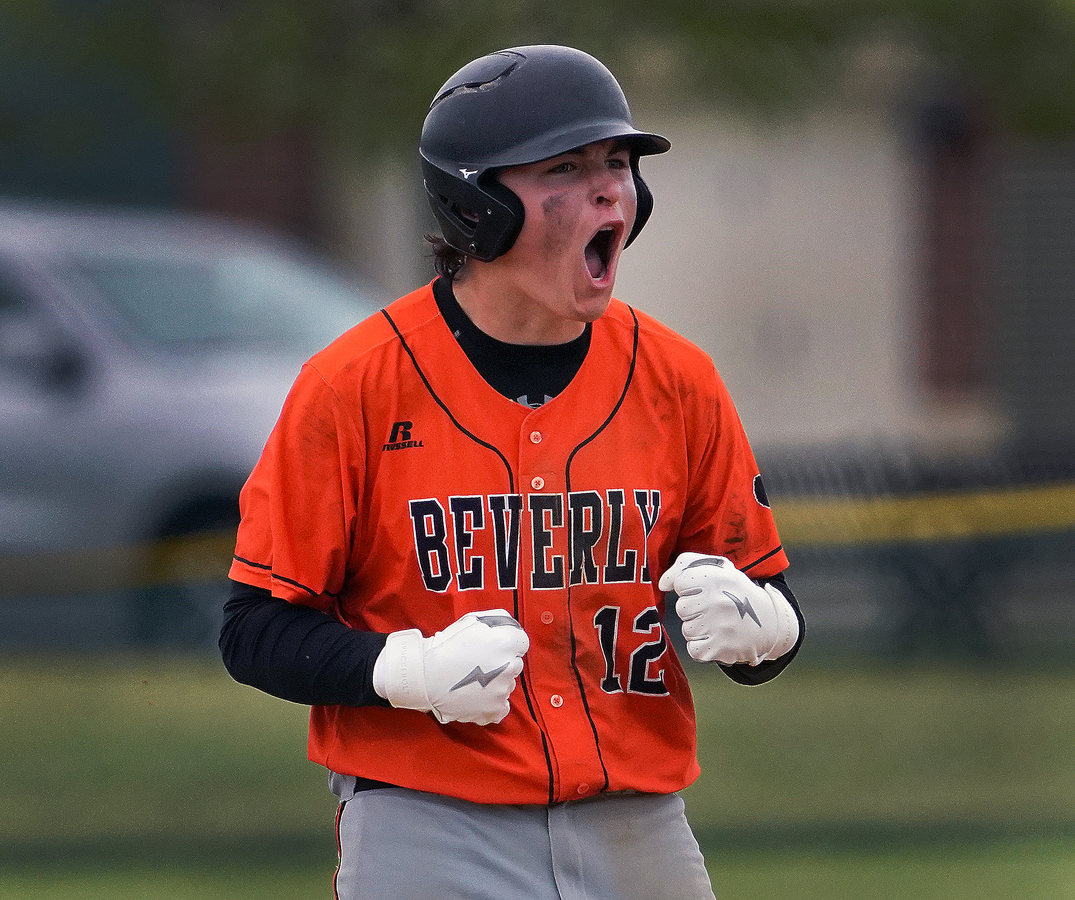
{"type": "Polygon", "coordinates": [[[717,896],[1075,897],[1071,0],[0,0],[0,897],[330,896],[306,711],[216,658],[238,490],[432,277],[430,98],[546,42],[672,141],[616,292],[713,356],[809,625],[690,667],[717,896]]]}

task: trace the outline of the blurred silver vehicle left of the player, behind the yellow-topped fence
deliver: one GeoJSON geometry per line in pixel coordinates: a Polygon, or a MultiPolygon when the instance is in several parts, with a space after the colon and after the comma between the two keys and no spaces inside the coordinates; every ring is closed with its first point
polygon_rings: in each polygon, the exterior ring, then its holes
{"type": "Polygon", "coordinates": [[[211,641],[288,387],[379,305],[252,229],[0,203],[0,647],[211,641]]]}

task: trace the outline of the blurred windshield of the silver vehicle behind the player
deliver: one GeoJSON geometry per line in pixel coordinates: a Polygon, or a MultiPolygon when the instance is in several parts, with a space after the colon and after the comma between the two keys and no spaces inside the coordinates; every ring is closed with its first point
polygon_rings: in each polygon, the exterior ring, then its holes
{"type": "Polygon", "coordinates": [[[78,256],[77,271],[159,344],[272,343],[313,352],[375,311],[343,278],[268,253],[78,256]]]}

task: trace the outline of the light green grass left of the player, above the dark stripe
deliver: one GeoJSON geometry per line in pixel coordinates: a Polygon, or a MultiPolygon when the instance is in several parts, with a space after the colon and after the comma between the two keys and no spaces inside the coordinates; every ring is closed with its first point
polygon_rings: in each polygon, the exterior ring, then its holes
{"type": "Polygon", "coordinates": [[[14,659],[0,683],[0,848],[256,841],[331,822],[309,709],[213,661],[14,659]]]}

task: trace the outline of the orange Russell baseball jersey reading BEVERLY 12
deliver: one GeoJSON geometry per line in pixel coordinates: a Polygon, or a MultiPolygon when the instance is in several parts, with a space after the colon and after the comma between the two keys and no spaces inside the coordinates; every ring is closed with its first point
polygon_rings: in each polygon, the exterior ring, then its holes
{"type": "Polygon", "coordinates": [[[539,409],[475,371],[427,285],[314,356],[241,498],[231,577],[353,628],[503,608],[530,635],[498,725],[314,706],[310,758],[476,802],[669,792],[699,774],[657,581],[684,551],[787,567],[712,361],[613,300],[539,409]]]}

